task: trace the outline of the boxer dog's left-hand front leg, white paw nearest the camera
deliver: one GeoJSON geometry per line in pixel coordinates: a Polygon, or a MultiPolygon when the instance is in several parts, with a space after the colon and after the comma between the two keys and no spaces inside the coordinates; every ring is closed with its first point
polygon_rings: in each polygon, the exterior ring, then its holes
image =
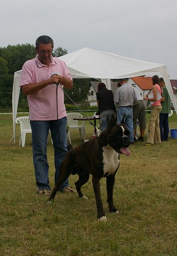
{"type": "Polygon", "coordinates": [[[98,220],[99,221],[106,221],[107,218],[105,216],[105,212],[103,209],[103,204],[101,201],[101,193],[100,193],[100,179],[97,177],[92,177],[92,183],[93,183],[93,190],[95,194],[95,199],[96,199],[96,207],[98,211],[98,220]]]}

